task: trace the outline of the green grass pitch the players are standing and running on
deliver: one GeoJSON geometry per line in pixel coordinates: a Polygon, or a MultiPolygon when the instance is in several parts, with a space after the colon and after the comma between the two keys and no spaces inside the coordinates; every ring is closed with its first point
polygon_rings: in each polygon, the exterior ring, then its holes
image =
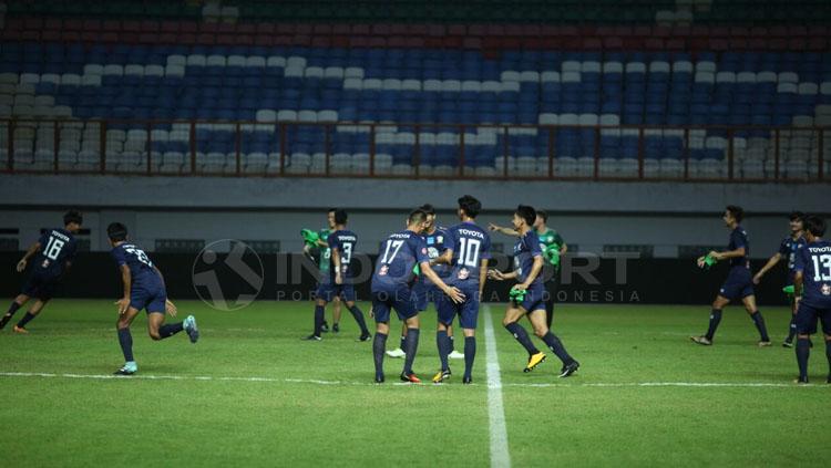
{"type": "MultiPolygon", "coordinates": [[[[449,384],[391,385],[402,361],[387,358],[388,384],[377,386],[371,343],[356,341],[346,311],[340,334],[310,343],[299,337],[309,333],[311,303],[178,308],[179,318],[197,316],[203,337],[195,345],[184,333],[152,342],[145,320],[136,319],[144,378],[9,375],[112,373],[122,356],[111,301],[55,300],[25,336],[12,334],[10,323],[0,334],[3,465],[490,464],[481,321],[476,385],[461,385],[461,361],[452,362],[449,384]]],[[[554,330],[582,363],[568,379],[555,377],[560,362],[551,353],[523,374],[526,355],[501,326],[503,305],[491,313],[514,466],[800,465],[831,456],[824,349],[814,337],[814,385],[789,385],[797,371],[793,350],[779,346],[789,320],[783,308],[763,311],[776,342],[758,349],[756,329],[738,308],[726,311],[716,345],[705,347],[688,335],[706,329],[707,306],[558,306],[554,330]],[[595,386],[666,382],[784,386],[595,386]]],[[[414,367],[427,382],[438,368],[434,312],[422,322],[414,367]]],[[[398,344],[398,330],[396,322],[388,349],[398,344]]]]}

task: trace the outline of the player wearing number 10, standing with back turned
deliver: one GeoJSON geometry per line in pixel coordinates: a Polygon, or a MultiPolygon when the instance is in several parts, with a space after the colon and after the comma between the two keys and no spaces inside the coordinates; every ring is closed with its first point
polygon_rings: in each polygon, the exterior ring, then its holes
{"type": "Polygon", "coordinates": [[[459,323],[464,333],[464,376],[463,384],[470,384],[473,372],[473,360],[476,356],[476,322],[479,319],[479,302],[482,289],[488,278],[488,260],[491,258],[491,236],[475,223],[476,216],[482,210],[482,204],[465,195],[459,198],[459,225],[448,229],[447,249],[440,257],[441,262],[451,266],[452,270],[445,279],[450,285],[458,288],[464,294],[464,301],[454,303],[441,297],[437,309],[439,311],[439,330],[435,343],[439,347],[441,371],[433,377],[433,383],[442,383],[450,378],[448,355],[451,341],[448,329],[453,319],[459,315],[459,323]]]}

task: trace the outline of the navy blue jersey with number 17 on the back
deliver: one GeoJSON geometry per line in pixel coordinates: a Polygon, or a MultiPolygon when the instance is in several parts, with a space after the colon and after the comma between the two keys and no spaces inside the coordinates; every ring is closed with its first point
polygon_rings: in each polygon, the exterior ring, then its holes
{"type": "Polygon", "coordinates": [[[421,236],[410,230],[391,235],[381,242],[372,273],[372,291],[409,288],[414,279],[413,268],[429,261],[427,245],[421,236]]]}

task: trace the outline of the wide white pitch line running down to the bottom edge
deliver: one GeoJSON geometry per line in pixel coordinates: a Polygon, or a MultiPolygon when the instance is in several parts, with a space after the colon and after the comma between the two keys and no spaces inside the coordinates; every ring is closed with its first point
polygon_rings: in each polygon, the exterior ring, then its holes
{"type": "Polygon", "coordinates": [[[505,408],[502,404],[502,377],[500,360],[496,353],[496,336],[491,322],[491,308],[484,306],[484,334],[488,372],[488,419],[491,427],[491,467],[507,468],[511,466],[511,454],[507,449],[507,428],[505,408]]]}

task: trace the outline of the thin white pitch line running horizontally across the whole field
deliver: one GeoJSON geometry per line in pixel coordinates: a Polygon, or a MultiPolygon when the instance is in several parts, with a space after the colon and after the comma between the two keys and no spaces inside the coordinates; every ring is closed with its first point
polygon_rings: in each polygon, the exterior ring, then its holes
{"type": "MultiPolygon", "coordinates": [[[[328,385],[328,386],[378,386],[378,384],[371,382],[349,382],[349,381],[320,381],[320,379],[304,379],[304,378],[276,378],[276,377],[232,377],[232,376],[212,376],[212,375],[152,375],[152,374],[135,374],[132,376],[120,376],[112,374],[55,374],[48,372],[0,372],[0,377],[22,377],[22,378],[68,378],[68,379],[91,379],[91,381],[177,381],[177,382],[264,382],[264,383],[277,383],[277,384],[311,384],[311,385],[328,385]]],[[[412,384],[403,382],[394,382],[393,386],[413,386],[412,384]]],[[[452,388],[452,385],[416,385],[421,388],[452,388]]],[[[476,384],[473,384],[476,386],[476,384]]],[[[491,385],[488,385],[489,388],[491,385]]],[[[494,385],[493,388],[504,387],[516,387],[516,388],[577,388],[577,387],[593,387],[593,388],[619,388],[619,387],[699,387],[699,388],[831,388],[828,384],[808,384],[808,385],[796,385],[786,383],[773,383],[773,382],[597,382],[597,383],[585,383],[585,384],[554,384],[554,383],[538,383],[538,384],[499,384],[494,385]]]]}

